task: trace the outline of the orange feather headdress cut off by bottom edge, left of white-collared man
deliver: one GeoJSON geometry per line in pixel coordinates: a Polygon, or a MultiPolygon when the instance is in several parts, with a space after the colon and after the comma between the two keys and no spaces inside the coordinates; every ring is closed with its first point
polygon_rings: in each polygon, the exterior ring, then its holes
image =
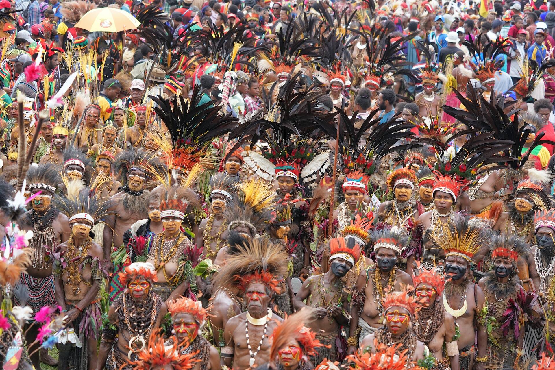
{"type": "Polygon", "coordinates": [[[171,368],[173,370],[192,370],[200,359],[196,359],[196,352],[182,354],[179,341],[175,336],[169,338],[173,346],[166,347],[166,338],[159,329],[150,335],[147,346],[137,353],[138,359],[129,362],[133,370],[153,370],[171,368]]]}

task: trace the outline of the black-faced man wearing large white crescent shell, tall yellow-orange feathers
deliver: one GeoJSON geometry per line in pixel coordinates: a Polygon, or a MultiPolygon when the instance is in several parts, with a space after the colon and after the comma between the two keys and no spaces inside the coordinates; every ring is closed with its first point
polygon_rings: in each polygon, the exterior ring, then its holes
{"type": "Polygon", "coordinates": [[[487,236],[482,229],[479,218],[465,217],[453,221],[441,237],[433,238],[446,252],[445,275],[450,280],[445,284],[443,307],[455,318],[461,332],[457,339],[461,370],[470,370],[473,364],[483,370],[488,362],[486,326],[480,321],[485,297],[471,272],[472,264],[485,254],[487,236]]]}

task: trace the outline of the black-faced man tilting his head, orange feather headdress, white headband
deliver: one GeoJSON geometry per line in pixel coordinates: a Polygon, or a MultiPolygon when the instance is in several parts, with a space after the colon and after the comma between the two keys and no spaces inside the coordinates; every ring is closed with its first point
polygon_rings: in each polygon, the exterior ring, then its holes
{"type": "Polygon", "coordinates": [[[337,348],[337,339],[341,335],[340,328],[349,323],[347,318],[347,294],[343,289],[341,278],[359,261],[360,245],[352,238],[337,237],[330,240],[330,269],[320,275],[307,278],[295,296],[293,306],[296,310],[302,307],[314,307],[316,321],[310,324],[316,339],[330,346],[320,349],[319,353],[310,358],[312,363],[320,363],[327,357],[330,361],[342,361],[346,348],[337,348]],[[304,300],[306,299],[306,304],[304,300]]]}

